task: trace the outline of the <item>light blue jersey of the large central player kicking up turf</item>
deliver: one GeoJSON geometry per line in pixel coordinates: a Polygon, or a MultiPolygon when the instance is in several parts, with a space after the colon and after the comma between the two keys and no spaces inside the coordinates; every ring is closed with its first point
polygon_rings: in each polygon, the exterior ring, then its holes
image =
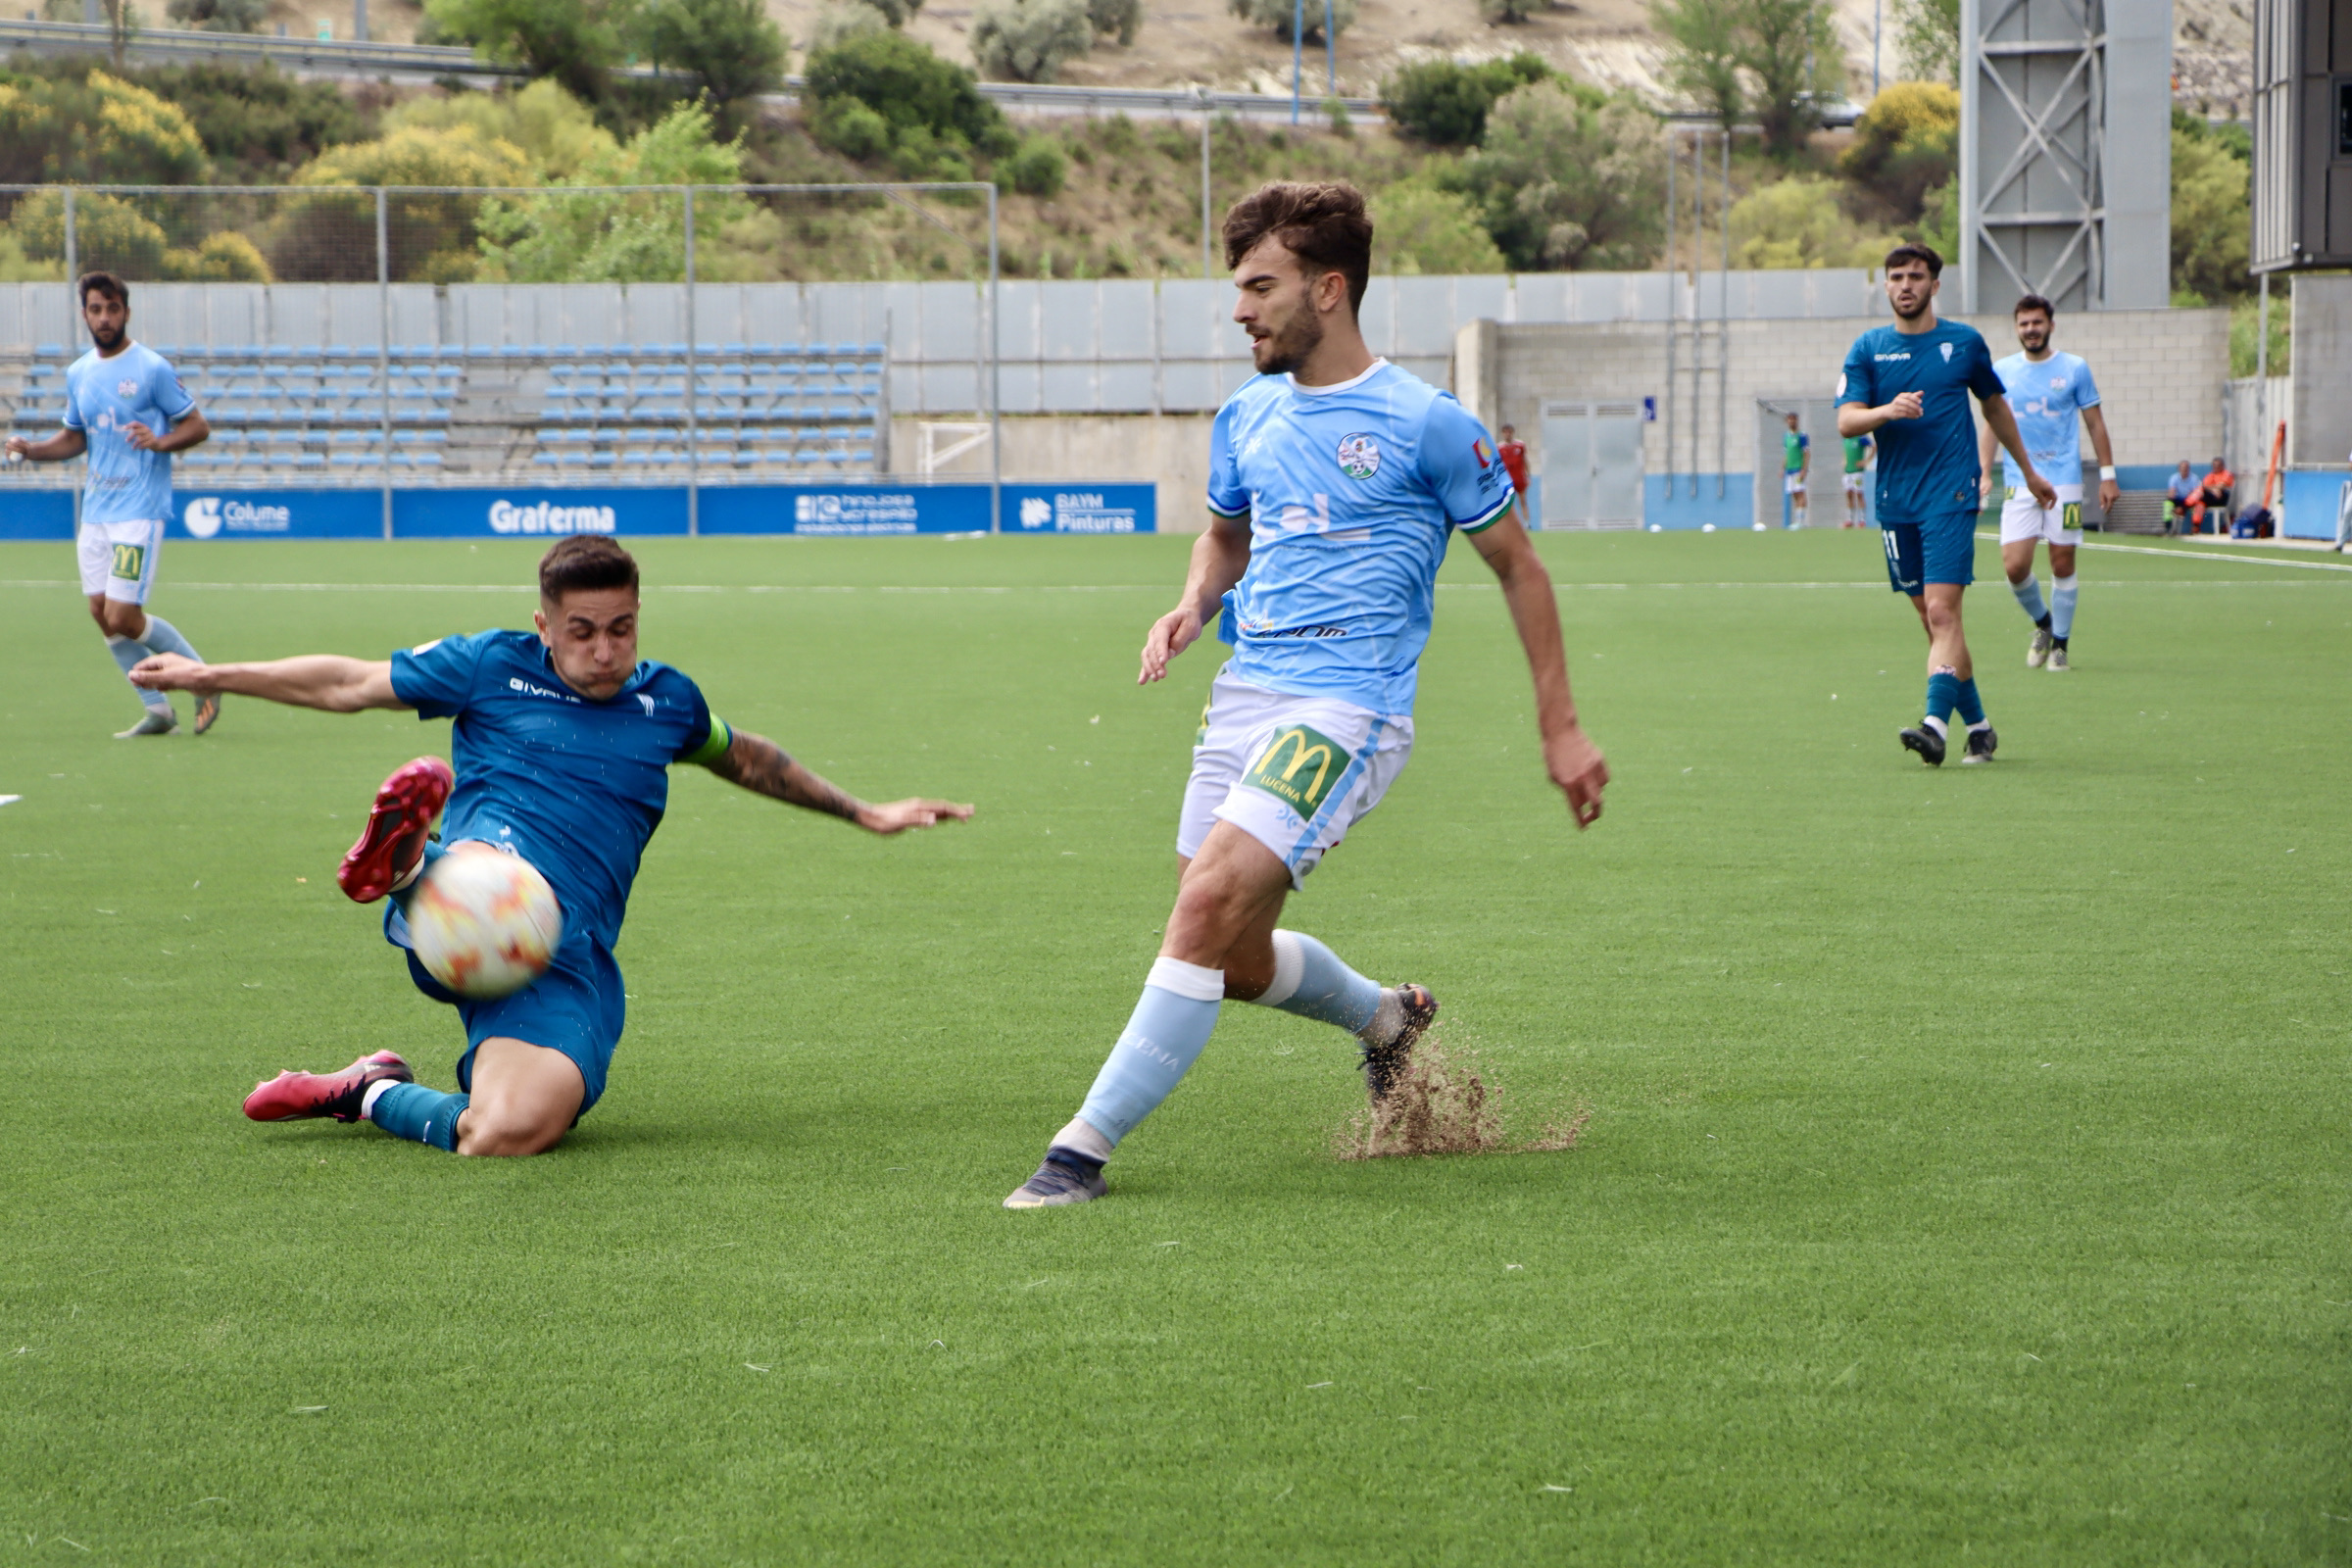
{"type": "Polygon", "coordinates": [[[1388,360],[1338,386],[1247,381],[1209,435],[1209,510],[1249,517],[1228,670],[1411,715],[1446,536],[1494,524],[1510,498],[1486,428],[1388,360]]]}

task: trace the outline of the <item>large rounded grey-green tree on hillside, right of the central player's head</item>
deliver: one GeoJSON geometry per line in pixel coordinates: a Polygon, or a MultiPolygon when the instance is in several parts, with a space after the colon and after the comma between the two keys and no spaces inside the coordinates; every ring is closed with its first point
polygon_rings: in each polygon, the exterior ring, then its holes
{"type": "Polygon", "coordinates": [[[1486,113],[1461,183],[1515,268],[1642,268],[1665,228],[1665,136],[1630,99],[1536,82],[1486,113]]]}

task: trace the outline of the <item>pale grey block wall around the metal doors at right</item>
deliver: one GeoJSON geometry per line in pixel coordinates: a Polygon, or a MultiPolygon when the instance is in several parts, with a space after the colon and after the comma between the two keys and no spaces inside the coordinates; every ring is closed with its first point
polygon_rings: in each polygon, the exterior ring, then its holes
{"type": "MultiPolygon", "coordinates": [[[[2314,280],[2305,280],[2314,282],[2314,280]]],[[[2352,329],[2352,277],[2345,284],[2345,324],[2352,329]]],[[[2296,294],[2296,371],[2303,348],[2303,289],[2296,294]]],[[[1806,400],[1837,393],[1839,367],[1856,334],[1875,320],[1733,320],[1729,324],[1729,376],[1722,378],[1724,421],[1717,423],[1712,369],[1717,329],[1705,329],[1710,369],[1693,395],[1691,331],[1684,322],[1677,376],[1668,386],[1668,327],[1663,322],[1609,322],[1592,327],[1470,322],[1456,336],[1456,393],[1489,425],[1512,423],[1541,470],[1538,416],[1545,400],[1658,400],[1658,418],[1644,430],[1644,463],[1651,475],[1755,473],[1759,465],[1757,400],[1806,400]],[[1668,433],[1675,447],[1668,451],[1668,433]]],[[[1994,357],[2016,350],[2006,317],[1973,317],[1994,357]]],[[[2223,383],[2230,374],[2227,310],[2103,310],[2058,320],[2058,348],[2079,353],[2098,376],[2119,465],[2204,461],[2223,440],[2223,383]]],[[[2352,343],[2347,343],[2352,348],[2352,343]]],[[[2336,461],[2352,451],[2352,355],[2331,360],[2343,390],[2338,414],[2345,440],[2336,461]]],[[[2298,381],[2298,407],[2303,402],[2298,381]]],[[[1778,468],[1778,454],[1771,456],[1778,468]]],[[[1835,491],[1832,491],[1835,498],[1835,491]]]]}

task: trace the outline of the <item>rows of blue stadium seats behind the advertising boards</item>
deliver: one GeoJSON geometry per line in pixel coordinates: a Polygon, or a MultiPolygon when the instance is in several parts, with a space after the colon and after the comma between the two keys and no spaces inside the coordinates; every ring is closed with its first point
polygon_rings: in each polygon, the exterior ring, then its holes
{"type": "MultiPolygon", "coordinates": [[[[830,477],[875,473],[889,418],[880,343],[155,350],[212,421],[179,458],[212,484],[830,477]]],[[[7,360],[7,430],[47,435],[71,353],[7,360]]]]}

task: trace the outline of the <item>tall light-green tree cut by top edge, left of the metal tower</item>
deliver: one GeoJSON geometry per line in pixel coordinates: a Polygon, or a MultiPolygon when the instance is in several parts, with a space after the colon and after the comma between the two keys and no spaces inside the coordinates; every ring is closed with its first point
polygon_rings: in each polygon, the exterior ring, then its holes
{"type": "Polygon", "coordinates": [[[1764,150],[1788,158],[1844,87],[1830,0],[1668,0],[1668,78],[1731,129],[1755,115],[1764,150]]]}

